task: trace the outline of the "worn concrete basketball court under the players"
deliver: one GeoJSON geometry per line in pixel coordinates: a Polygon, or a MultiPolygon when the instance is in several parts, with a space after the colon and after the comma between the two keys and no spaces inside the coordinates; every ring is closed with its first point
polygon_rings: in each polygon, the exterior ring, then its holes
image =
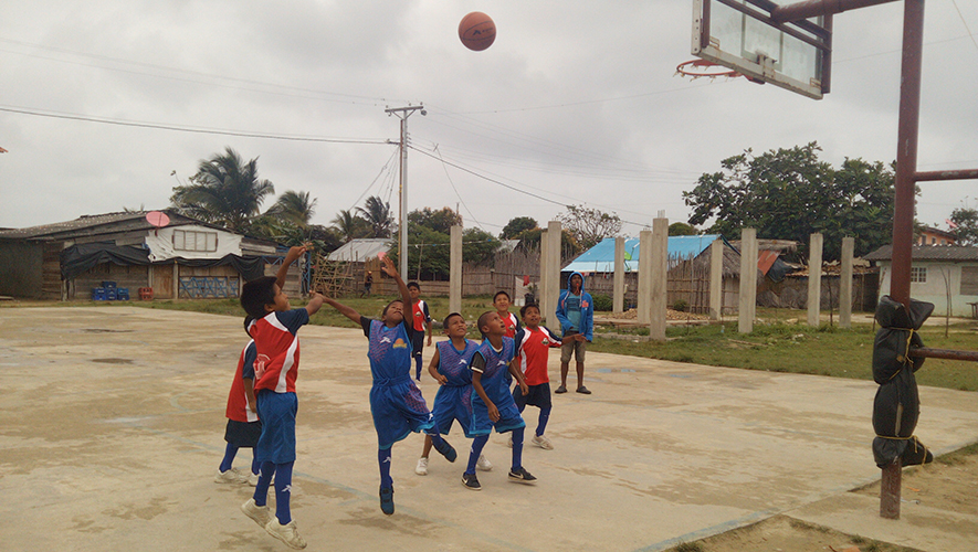
{"type": "MultiPolygon", "coordinates": [[[[433,454],[430,474],[416,476],[412,435],[393,448],[397,513],[387,517],[367,341],[340,328],[299,336],[292,507],[307,550],[655,551],[776,513],[922,550],[975,550],[975,517],[937,526],[909,502],[900,521],[880,519],[879,501],[853,507],[846,491],[880,477],[873,382],[599,353],[588,354],[593,395],[554,397],[556,448],[524,450],[538,485],[506,480],[511,452],[494,435],[485,454],[496,468],[480,473],[481,492],[464,489],[458,427],[449,440],[460,459],[433,454]]],[[[288,550],[239,510],[248,488],[212,480],[246,339],[240,319],[214,315],[0,309],[2,549],[288,550]]],[[[435,388],[425,375],[429,404],[435,388]]],[[[978,439],[978,393],[921,396],[916,433],[936,454],[978,439]]],[[[536,413],[527,408],[529,427],[536,413]]],[[[242,450],[235,466],[250,461],[242,450]]]]}

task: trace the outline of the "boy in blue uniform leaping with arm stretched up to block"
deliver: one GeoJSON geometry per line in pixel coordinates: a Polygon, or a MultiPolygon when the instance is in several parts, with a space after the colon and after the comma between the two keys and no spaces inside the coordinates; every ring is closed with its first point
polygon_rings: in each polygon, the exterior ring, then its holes
{"type": "Polygon", "coordinates": [[[393,513],[393,479],[390,477],[391,447],[411,432],[431,435],[435,450],[449,461],[458,456],[452,445],[444,440],[438,424],[421,396],[421,390],[411,380],[411,293],[401,279],[393,262],[383,258],[383,272],[398,284],[401,298],[383,308],[380,320],[362,317],[351,307],[332,298],[325,301],[341,315],[360,325],[370,341],[367,358],[370,359],[370,373],[374,386],[370,388],[370,413],[374,428],[377,429],[377,461],[380,464],[380,510],[393,513]],[[406,312],[408,315],[406,316],[406,312]]]}

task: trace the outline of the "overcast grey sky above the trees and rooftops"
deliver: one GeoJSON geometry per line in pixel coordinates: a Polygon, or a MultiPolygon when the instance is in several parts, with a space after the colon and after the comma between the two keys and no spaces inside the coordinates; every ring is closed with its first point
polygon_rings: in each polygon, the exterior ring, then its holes
{"type": "MultiPolygon", "coordinates": [[[[368,195],[397,212],[387,141],[399,121],[385,107],[421,103],[428,115],[408,119],[408,209],[458,206],[466,227],[493,234],[515,216],[545,225],[567,204],[618,214],[628,235],[660,211],[686,221],[682,192],[747,148],[818,141],[835,167],[896,157],[903,2],[835,17],[821,100],[674,76],[693,59],[691,6],[8,1],[0,227],[166,208],[225,147],[259,158],[277,193],[311,192],[315,223],[368,195]],[[488,50],[458,38],[470,11],[496,23],[488,50]]],[[[925,24],[918,169],[978,168],[978,2],[928,0],[925,24]]],[[[921,188],[927,224],[978,206],[974,180],[921,188]]]]}

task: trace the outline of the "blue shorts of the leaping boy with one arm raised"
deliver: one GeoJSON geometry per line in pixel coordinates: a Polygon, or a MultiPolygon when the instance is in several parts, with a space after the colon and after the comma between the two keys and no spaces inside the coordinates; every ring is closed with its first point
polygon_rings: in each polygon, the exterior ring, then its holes
{"type": "Polygon", "coordinates": [[[381,450],[393,446],[411,432],[434,427],[434,417],[421,396],[421,390],[404,374],[396,382],[374,383],[370,388],[370,413],[381,450]]]}

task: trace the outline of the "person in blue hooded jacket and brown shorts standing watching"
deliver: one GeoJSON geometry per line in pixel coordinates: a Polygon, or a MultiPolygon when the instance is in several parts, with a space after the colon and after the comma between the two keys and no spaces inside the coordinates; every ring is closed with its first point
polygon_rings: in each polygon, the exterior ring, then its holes
{"type": "Polygon", "coordinates": [[[567,393],[567,372],[572,354],[577,362],[577,392],[590,395],[591,391],[585,386],[585,352],[593,339],[595,300],[585,291],[581,273],[571,273],[567,278],[567,289],[560,290],[556,314],[564,344],[560,347],[560,386],[554,393],[567,393]]]}

